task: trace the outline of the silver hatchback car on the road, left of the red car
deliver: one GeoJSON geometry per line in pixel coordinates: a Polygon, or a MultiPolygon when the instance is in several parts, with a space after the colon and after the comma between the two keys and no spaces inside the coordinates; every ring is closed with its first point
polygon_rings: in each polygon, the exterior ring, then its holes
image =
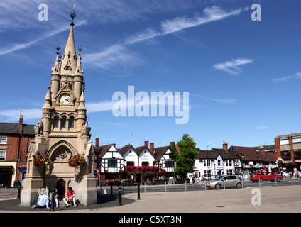
{"type": "Polygon", "coordinates": [[[211,189],[221,189],[226,187],[242,187],[241,180],[237,175],[221,175],[216,179],[206,182],[206,187],[211,189]]]}

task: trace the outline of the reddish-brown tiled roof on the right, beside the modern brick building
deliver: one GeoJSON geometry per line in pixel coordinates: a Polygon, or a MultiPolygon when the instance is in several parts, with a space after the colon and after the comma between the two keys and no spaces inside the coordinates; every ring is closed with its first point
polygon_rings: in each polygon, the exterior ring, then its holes
{"type": "Polygon", "coordinates": [[[275,162],[276,158],[270,155],[268,152],[258,151],[258,157],[256,150],[250,147],[231,146],[229,150],[233,149],[234,152],[239,155],[243,161],[261,161],[261,162],[275,162]]]}

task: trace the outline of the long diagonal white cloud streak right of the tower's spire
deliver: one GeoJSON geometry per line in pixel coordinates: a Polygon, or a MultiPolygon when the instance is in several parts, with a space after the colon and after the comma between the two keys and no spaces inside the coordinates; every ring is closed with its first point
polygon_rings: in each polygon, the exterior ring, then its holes
{"type": "MultiPolygon", "coordinates": [[[[141,32],[133,33],[119,42],[116,45],[100,51],[85,55],[85,61],[88,64],[94,65],[104,70],[112,70],[115,64],[125,67],[126,65],[140,64],[141,60],[135,54],[129,52],[126,48],[128,45],[135,43],[151,43],[151,40],[156,37],[163,37],[170,33],[181,31],[185,28],[192,28],[200,26],[204,23],[223,20],[229,16],[237,16],[243,9],[236,9],[234,11],[224,11],[219,6],[207,7],[204,9],[204,16],[195,16],[194,18],[174,18],[173,20],[165,20],[160,23],[160,29],[147,28],[141,32]]],[[[114,71],[114,70],[113,70],[114,71]]],[[[118,72],[118,70],[116,71],[118,72]]]]}

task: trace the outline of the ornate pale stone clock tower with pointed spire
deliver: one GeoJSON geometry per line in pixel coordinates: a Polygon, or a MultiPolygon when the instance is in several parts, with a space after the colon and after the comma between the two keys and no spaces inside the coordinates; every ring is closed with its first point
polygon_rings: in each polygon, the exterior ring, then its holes
{"type": "Polygon", "coordinates": [[[48,192],[57,189],[60,199],[65,197],[68,187],[76,193],[80,204],[97,203],[94,177],[94,150],[84,105],[84,77],[81,51],[75,51],[73,20],[69,37],[60,60],[59,50],[52,68],[51,84],[45,96],[42,120],[35,126],[35,140],[28,150],[27,174],[24,181],[21,206],[32,206],[40,187],[48,192]],[[35,159],[47,155],[51,165],[36,166],[35,159]],[[80,167],[70,167],[68,161],[81,155],[87,162],[80,167]]]}

